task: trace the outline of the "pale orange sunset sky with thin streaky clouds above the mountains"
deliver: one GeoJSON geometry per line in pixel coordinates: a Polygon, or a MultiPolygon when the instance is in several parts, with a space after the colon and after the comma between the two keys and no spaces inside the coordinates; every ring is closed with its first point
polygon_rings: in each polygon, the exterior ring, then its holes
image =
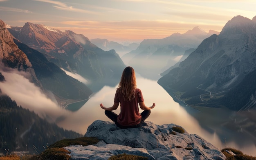
{"type": "Polygon", "coordinates": [[[256,16],[255,0],[0,0],[0,20],[71,30],[89,39],[141,42],[199,26],[221,31],[236,15],[256,16]]]}

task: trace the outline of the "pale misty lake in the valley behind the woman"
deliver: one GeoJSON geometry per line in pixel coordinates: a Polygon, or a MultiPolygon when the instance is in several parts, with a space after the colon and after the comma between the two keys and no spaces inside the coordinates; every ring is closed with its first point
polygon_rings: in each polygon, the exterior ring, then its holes
{"type": "MultiPolygon", "coordinates": [[[[220,108],[192,108],[182,103],[179,104],[157,81],[145,79],[137,74],[136,76],[137,88],[141,89],[145,104],[148,106],[152,103],[156,104],[146,121],[151,121],[156,125],[174,123],[182,126],[190,134],[198,134],[219,149],[234,147],[245,154],[256,155],[253,136],[226,127],[225,124],[230,121],[230,116],[234,114],[233,111],[220,108]]],[[[99,104],[103,103],[106,107],[112,106],[116,88],[117,85],[115,87],[104,86],[101,90],[92,94],[79,110],[69,112],[63,121],[58,122],[58,125],[85,134],[88,126],[94,121],[99,119],[111,121],[105,116],[104,110],[101,109],[99,104]]],[[[120,106],[114,112],[119,114],[120,106]]]]}

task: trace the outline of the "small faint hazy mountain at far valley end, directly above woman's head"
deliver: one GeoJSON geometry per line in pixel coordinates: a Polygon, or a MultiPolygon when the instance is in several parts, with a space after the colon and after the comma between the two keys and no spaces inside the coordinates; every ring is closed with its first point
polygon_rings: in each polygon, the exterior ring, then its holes
{"type": "Polygon", "coordinates": [[[124,46],[117,42],[108,41],[108,39],[100,39],[100,38],[91,39],[91,42],[96,46],[98,46],[99,48],[106,51],[114,49],[120,55],[120,57],[126,53],[129,53],[132,50],[135,50],[139,46],[139,44],[137,43],[131,43],[128,46],[124,46]]]}

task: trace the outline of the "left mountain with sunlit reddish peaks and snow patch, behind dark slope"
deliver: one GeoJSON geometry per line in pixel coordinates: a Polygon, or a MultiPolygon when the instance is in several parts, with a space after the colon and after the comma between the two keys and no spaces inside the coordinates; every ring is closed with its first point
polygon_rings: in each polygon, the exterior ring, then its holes
{"type": "Polygon", "coordinates": [[[113,50],[98,48],[90,40],[72,31],[60,31],[42,24],[27,22],[21,29],[8,28],[20,42],[46,55],[60,68],[95,80],[120,76],[125,65],[113,50]]]}

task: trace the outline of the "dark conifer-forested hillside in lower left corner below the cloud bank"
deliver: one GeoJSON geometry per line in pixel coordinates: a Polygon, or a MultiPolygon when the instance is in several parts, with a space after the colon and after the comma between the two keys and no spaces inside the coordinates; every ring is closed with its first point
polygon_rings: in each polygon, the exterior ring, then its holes
{"type": "Polygon", "coordinates": [[[7,95],[0,96],[0,153],[28,151],[37,154],[58,140],[81,136],[18,106],[7,95]]]}

